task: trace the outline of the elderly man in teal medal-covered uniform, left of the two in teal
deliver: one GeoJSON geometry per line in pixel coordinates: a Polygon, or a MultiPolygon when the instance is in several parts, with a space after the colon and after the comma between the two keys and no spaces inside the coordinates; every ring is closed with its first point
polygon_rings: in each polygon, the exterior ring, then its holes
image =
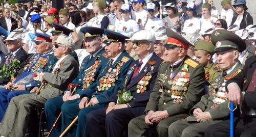
{"type": "MultiPolygon", "coordinates": [[[[63,31],[67,33],[67,30],[63,31]]],[[[69,92],[70,90],[67,88],[63,96],[51,98],[45,104],[49,129],[51,129],[60,111],[62,111],[62,119],[64,120],[67,118],[68,120],[67,122],[65,121],[65,123],[62,123],[61,126],[56,125],[50,134],[51,136],[59,136],[60,131],[65,130],[65,128],[73,120],[72,118],[77,116],[78,112],[80,111],[77,106],[80,102],[80,96],[83,93],[82,91],[91,85],[95,85],[95,81],[98,78],[100,72],[108,63],[108,60],[106,59],[107,53],[102,48],[102,35],[104,34],[104,30],[90,26],[82,28],[81,32],[84,33],[84,41],[87,43],[87,51],[90,53],[90,55],[83,59],[79,74],[72,81],[72,84],[74,85],[80,84],[80,87],[77,88],[74,95],[71,96],[71,92],[69,92]],[[73,111],[70,111],[71,108],[73,111]],[[74,111],[73,108],[76,108],[76,111],[74,111]],[[66,113],[69,115],[66,115],[66,113]],[[71,115],[70,113],[73,114],[71,115]]],[[[75,134],[75,131],[76,130],[72,130],[72,133],[75,134]]]]}

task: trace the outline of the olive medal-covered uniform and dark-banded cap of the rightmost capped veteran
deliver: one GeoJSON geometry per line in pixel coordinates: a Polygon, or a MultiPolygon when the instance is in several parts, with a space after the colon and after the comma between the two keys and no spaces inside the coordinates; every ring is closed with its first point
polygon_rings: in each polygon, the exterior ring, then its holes
{"type": "MultiPolygon", "coordinates": [[[[245,43],[242,45],[234,44],[232,39],[239,39],[239,37],[233,36],[231,32],[217,30],[213,34],[215,33],[219,33],[218,35],[211,36],[211,38],[214,38],[214,41],[212,42],[216,43],[215,52],[223,52],[230,49],[240,51],[243,49],[242,46],[245,46],[245,43]],[[224,42],[222,39],[217,39],[218,37],[222,36],[226,38],[223,40],[224,42]],[[230,37],[233,38],[229,39],[230,37]],[[231,41],[232,43],[227,41],[231,41]]],[[[233,66],[230,66],[229,69],[223,70],[222,73],[219,73],[215,80],[211,83],[209,93],[202,96],[201,101],[190,110],[190,115],[193,115],[194,109],[196,108],[200,108],[203,112],[209,112],[211,116],[210,120],[205,122],[197,122],[194,116],[189,116],[184,120],[176,121],[169,126],[169,136],[204,136],[204,131],[209,125],[219,123],[229,116],[229,101],[225,95],[225,85],[227,80],[236,76],[239,72],[241,72],[242,68],[243,65],[238,61],[233,66]]]]}

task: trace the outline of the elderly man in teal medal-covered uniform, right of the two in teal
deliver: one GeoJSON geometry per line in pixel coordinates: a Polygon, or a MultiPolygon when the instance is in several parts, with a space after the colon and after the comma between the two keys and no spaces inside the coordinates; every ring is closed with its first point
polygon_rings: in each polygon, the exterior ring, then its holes
{"type": "Polygon", "coordinates": [[[79,102],[81,110],[78,114],[76,136],[89,135],[89,132],[84,130],[88,123],[87,115],[95,109],[104,107],[112,94],[119,90],[130,64],[134,61],[124,48],[125,39],[129,37],[106,29],[104,29],[104,33],[106,35],[104,38],[105,51],[108,53],[109,62],[100,72],[95,86],[90,86],[81,94],[79,102]],[[84,107],[87,103],[91,106],[84,107]]]}

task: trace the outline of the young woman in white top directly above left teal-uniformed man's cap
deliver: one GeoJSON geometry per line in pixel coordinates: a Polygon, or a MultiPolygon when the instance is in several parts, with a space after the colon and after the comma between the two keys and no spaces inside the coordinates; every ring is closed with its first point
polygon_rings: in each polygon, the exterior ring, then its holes
{"type": "Polygon", "coordinates": [[[104,9],[106,8],[106,2],[104,0],[96,0],[93,2],[93,12],[95,16],[89,20],[87,26],[94,26],[101,29],[107,29],[110,20],[105,14],[104,9]]]}

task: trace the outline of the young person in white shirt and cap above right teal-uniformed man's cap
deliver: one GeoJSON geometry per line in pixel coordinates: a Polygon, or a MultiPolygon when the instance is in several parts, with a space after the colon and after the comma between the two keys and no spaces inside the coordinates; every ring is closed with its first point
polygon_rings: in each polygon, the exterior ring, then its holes
{"type": "Polygon", "coordinates": [[[133,33],[138,32],[139,24],[130,18],[131,15],[131,6],[127,4],[123,4],[120,10],[122,20],[116,20],[115,22],[115,32],[121,33],[125,36],[133,33]]]}

